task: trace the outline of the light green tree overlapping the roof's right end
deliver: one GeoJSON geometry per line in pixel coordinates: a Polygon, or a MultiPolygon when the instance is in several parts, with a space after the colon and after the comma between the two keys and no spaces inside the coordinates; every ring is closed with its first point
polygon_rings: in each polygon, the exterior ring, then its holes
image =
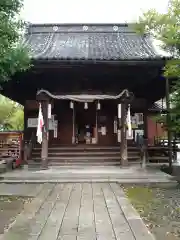
{"type": "Polygon", "coordinates": [[[180,0],[169,0],[168,10],[160,14],[155,9],[145,12],[136,24],[139,33],[151,34],[161,47],[172,55],[164,68],[165,77],[176,79],[171,89],[171,128],[180,131],[180,0]]]}

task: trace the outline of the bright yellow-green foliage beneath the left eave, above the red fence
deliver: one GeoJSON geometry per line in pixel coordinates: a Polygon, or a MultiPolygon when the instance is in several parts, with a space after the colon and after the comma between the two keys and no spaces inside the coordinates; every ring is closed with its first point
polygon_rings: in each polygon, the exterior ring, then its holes
{"type": "Polygon", "coordinates": [[[0,95],[0,129],[22,131],[24,129],[23,107],[0,95]]]}

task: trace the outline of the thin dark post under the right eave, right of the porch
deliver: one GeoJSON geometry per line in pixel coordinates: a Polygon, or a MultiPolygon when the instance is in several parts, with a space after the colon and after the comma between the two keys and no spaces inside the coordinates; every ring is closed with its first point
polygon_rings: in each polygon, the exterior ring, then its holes
{"type": "Polygon", "coordinates": [[[170,129],[171,116],[170,116],[170,99],[169,99],[169,79],[166,78],[166,125],[167,125],[167,133],[168,133],[168,156],[169,156],[169,167],[172,168],[172,130],[170,129]]]}

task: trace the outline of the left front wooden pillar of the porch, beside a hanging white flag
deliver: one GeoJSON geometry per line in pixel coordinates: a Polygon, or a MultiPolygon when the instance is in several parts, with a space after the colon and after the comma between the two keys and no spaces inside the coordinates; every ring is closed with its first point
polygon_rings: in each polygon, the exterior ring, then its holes
{"type": "Polygon", "coordinates": [[[42,132],[42,149],[41,149],[41,166],[42,169],[48,168],[48,135],[49,135],[49,121],[48,121],[48,101],[41,101],[42,114],[44,119],[44,127],[42,132]]]}

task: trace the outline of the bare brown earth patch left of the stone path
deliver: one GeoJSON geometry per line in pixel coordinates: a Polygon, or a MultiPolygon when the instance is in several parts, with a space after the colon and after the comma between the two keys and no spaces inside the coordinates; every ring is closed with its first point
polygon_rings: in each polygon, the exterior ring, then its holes
{"type": "Polygon", "coordinates": [[[0,234],[14,221],[15,217],[23,210],[24,203],[31,201],[29,198],[0,196],[0,234]]]}

